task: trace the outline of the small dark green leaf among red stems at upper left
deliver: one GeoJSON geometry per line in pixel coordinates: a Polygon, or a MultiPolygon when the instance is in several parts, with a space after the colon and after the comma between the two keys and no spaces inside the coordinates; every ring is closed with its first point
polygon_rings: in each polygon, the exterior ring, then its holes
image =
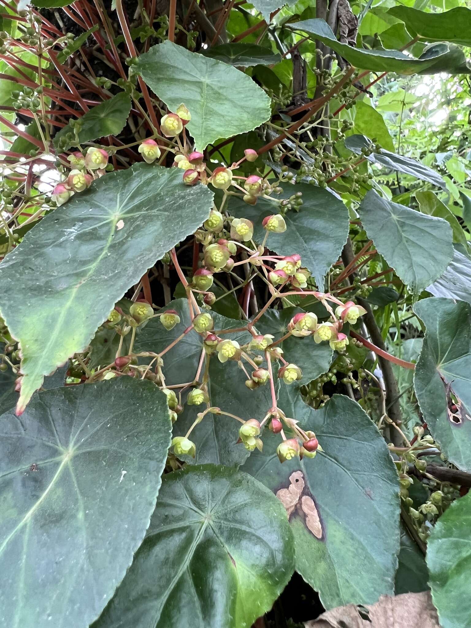
{"type": "MultiPolygon", "coordinates": [[[[80,46],[79,46],[80,47],[80,46]]],[[[92,139],[103,138],[107,135],[119,135],[131,111],[131,98],[126,92],[120,92],[109,100],[105,100],[80,118],[81,127],[78,133],[78,144],[84,144],[92,139]]],[[[60,129],[54,138],[54,145],[67,133],[73,133],[70,124],[60,129]]],[[[75,137],[75,136],[74,136],[75,137]]],[[[75,141],[69,142],[66,148],[75,146],[75,141]]]]}

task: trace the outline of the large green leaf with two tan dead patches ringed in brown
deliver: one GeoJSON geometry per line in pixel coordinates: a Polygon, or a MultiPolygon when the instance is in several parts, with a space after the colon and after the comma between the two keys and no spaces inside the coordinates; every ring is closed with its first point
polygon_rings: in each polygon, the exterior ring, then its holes
{"type": "Polygon", "coordinates": [[[313,430],[323,452],[280,465],[279,435],[265,430],[263,452],[243,470],[290,505],[296,571],[326,609],[370,604],[394,594],[399,551],[398,475],[386,443],[359,404],[334,395],[313,410],[281,386],[279,407],[313,430]]]}

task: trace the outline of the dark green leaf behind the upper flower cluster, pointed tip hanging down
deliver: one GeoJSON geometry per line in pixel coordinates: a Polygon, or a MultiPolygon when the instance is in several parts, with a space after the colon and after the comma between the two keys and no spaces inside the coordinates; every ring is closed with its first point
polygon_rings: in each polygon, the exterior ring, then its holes
{"type": "MultiPolygon", "coordinates": [[[[286,232],[270,234],[267,246],[278,255],[300,254],[301,263],[311,271],[318,287],[323,290],[323,278],[340,257],[347,241],[349,212],[338,197],[308,183],[298,183],[296,187],[286,185],[278,198],[289,198],[295,192],[302,193],[304,204],[299,212],[286,214],[286,232]]],[[[278,214],[279,205],[259,198],[253,207],[234,197],[230,200],[229,209],[237,217],[252,220],[254,237],[261,242],[266,233],[262,220],[271,214],[278,214]]]]}

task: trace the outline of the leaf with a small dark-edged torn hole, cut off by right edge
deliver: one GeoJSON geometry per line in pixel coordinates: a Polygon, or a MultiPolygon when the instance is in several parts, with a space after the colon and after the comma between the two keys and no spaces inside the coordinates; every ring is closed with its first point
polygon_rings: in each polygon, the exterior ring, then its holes
{"type": "Polygon", "coordinates": [[[431,297],[414,305],[426,333],[414,374],[415,393],[431,435],[450,462],[471,471],[471,307],[431,297]],[[445,385],[463,404],[462,418],[448,413],[445,385]]]}

